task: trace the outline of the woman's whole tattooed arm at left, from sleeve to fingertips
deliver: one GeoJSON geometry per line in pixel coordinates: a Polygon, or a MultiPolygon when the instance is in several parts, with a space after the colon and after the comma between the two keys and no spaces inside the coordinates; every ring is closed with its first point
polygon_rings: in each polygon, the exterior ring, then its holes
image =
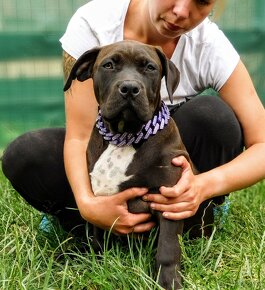
{"type": "MultiPolygon", "coordinates": [[[[64,75],[67,79],[75,59],[64,52],[64,75]]],[[[97,101],[91,79],[72,82],[65,93],[66,136],[64,162],[81,216],[88,222],[113,232],[129,233],[150,230],[149,214],[131,214],[127,200],[142,196],[146,189],[132,188],[113,196],[95,197],[89,180],[86,149],[97,116],[97,101]]]]}

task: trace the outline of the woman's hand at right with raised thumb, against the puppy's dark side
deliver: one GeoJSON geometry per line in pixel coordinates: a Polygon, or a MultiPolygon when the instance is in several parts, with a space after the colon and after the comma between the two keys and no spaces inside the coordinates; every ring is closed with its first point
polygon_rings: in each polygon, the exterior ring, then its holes
{"type": "Polygon", "coordinates": [[[173,187],[160,187],[161,194],[146,194],[143,199],[151,202],[151,208],[162,211],[171,220],[181,220],[193,216],[204,201],[199,192],[198,175],[194,175],[184,156],[172,160],[182,168],[182,175],[173,187]]]}

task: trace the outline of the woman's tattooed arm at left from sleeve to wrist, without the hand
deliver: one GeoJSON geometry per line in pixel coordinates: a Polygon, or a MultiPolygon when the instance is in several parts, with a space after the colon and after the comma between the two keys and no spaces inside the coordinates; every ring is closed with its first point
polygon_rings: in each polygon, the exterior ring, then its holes
{"type": "MultiPolygon", "coordinates": [[[[75,59],[64,52],[64,76],[67,79],[75,59]]],[[[97,102],[93,93],[92,80],[73,81],[65,92],[66,136],[64,161],[68,180],[71,184],[77,204],[92,190],[87,174],[86,149],[96,115],[97,102]]]]}

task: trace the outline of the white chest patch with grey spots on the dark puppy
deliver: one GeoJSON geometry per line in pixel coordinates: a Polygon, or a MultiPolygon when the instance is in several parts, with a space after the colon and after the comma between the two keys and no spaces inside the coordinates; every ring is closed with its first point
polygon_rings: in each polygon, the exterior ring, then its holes
{"type": "Polygon", "coordinates": [[[126,176],[125,172],[135,152],[132,146],[109,144],[90,173],[94,195],[113,195],[119,191],[119,184],[132,177],[126,176]]]}

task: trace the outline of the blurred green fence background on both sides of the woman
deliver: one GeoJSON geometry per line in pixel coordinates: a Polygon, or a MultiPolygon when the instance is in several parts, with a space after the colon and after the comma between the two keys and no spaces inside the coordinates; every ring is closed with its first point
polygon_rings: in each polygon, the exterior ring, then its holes
{"type": "MultiPolygon", "coordinates": [[[[64,126],[58,39],[86,2],[0,0],[0,149],[27,130],[64,126]]],[[[265,104],[265,0],[229,0],[212,17],[241,54],[265,104]]]]}

